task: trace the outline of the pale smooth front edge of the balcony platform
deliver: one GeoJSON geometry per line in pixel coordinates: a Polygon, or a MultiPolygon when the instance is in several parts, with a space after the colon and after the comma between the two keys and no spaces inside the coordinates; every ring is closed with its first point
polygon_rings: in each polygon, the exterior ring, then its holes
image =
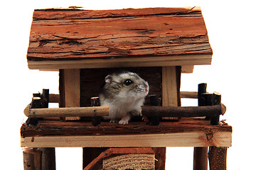
{"type": "Polygon", "coordinates": [[[230,147],[231,132],[177,132],[152,135],[35,136],[21,147],[230,147]],[[93,142],[92,142],[93,141],[93,142]]]}

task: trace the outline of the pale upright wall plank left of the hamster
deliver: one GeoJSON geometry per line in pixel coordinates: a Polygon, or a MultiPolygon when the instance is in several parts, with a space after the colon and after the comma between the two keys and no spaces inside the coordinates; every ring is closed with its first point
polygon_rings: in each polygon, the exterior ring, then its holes
{"type": "MultiPolygon", "coordinates": [[[[65,107],[80,107],[80,69],[64,69],[65,107]]],[[[78,120],[68,117],[66,120],[78,120]]]]}

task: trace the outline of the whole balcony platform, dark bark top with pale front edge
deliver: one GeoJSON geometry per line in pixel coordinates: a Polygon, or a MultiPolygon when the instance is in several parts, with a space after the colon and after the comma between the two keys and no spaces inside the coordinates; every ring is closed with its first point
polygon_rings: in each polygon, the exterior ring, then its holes
{"type": "Polygon", "coordinates": [[[159,126],[102,122],[97,127],[91,122],[41,120],[37,126],[22,125],[21,147],[230,147],[231,134],[229,125],[196,118],[159,126]]]}

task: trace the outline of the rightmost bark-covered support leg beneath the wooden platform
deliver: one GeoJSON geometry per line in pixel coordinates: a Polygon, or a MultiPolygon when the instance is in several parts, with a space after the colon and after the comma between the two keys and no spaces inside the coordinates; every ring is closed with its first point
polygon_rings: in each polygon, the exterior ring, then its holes
{"type": "Polygon", "coordinates": [[[228,147],[210,147],[208,158],[210,170],[227,169],[227,151],[228,147]]]}

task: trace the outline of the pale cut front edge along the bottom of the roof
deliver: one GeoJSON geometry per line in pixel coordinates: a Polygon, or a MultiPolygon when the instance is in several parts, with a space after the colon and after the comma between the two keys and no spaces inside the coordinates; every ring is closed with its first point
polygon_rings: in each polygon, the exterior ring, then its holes
{"type": "Polygon", "coordinates": [[[171,55],[164,57],[107,58],[106,60],[28,61],[29,69],[58,70],[117,67],[169,67],[181,64],[210,64],[211,55],[171,55]]]}

